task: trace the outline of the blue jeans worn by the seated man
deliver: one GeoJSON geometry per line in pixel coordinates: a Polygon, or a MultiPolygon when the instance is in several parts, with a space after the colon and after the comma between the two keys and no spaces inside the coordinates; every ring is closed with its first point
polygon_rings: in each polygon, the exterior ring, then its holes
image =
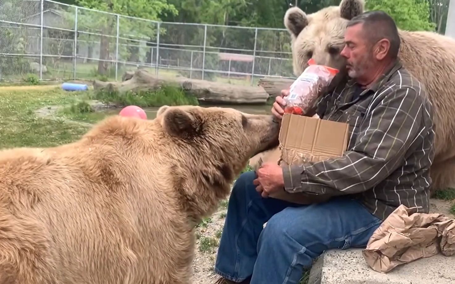
{"type": "Polygon", "coordinates": [[[364,247],[382,222],[346,196],[312,205],[262,198],[255,178],[238,178],[227,207],[215,272],[231,281],[298,284],[325,250],[364,247]]]}

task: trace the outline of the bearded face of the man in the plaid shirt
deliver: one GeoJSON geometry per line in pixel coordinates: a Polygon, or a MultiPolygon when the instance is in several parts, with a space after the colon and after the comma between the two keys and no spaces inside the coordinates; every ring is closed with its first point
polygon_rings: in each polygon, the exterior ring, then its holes
{"type": "Polygon", "coordinates": [[[348,75],[354,79],[368,77],[369,70],[375,65],[372,46],[362,31],[363,24],[350,26],[344,33],[344,49],[341,55],[346,58],[348,75]]]}

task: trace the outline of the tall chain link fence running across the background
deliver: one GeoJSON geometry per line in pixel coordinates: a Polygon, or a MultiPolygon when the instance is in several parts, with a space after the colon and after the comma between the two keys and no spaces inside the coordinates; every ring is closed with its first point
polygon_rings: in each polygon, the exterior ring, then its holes
{"type": "Polygon", "coordinates": [[[0,80],[121,80],[126,71],[255,85],[294,78],[284,29],[166,23],[51,0],[0,3],[0,80]]]}

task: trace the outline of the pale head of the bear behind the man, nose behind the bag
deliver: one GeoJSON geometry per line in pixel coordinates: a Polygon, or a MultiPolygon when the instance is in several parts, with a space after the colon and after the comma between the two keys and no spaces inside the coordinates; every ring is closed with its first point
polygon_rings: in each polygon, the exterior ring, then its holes
{"type": "Polygon", "coordinates": [[[342,0],[339,6],[308,15],[298,7],[288,9],[284,25],[291,34],[294,74],[300,75],[313,58],[316,64],[337,68],[339,76],[345,75],[346,61],[340,55],[344,31],[348,21],[363,11],[364,0],[342,0]]]}

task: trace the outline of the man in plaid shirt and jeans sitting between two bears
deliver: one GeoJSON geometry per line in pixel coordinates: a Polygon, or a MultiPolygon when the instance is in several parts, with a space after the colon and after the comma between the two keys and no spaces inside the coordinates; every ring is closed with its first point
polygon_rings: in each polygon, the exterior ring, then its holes
{"type": "MultiPolygon", "coordinates": [[[[384,12],[366,12],[349,21],[344,40],[351,80],[323,96],[316,112],[349,123],[348,151],[303,165],[263,164],[239,177],[218,249],[217,283],[297,284],[325,250],[365,246],[400,204],[428,213],[432,107],[400,64],[396,25],[384,12]],[[267,198],[278,190],[332,198],[311,205],[267,198]]],[[[283,105],[277,97],[278,119],[283,105]]]]}

